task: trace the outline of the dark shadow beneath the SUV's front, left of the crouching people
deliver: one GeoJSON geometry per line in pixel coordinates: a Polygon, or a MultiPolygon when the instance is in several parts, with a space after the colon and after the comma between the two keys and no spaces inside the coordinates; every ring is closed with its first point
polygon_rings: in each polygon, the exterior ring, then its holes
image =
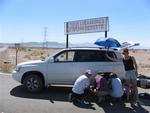
{"type": "Polygon", "coordinates": [[[17,86],[10,91],[10,95],[27,99],[43,99],[54,101],[68,101],[68,95],[71,92],[71,87],[51,86],[45,88],[40,93],[30,93],[24,90],[23,85],[17,86]]]}

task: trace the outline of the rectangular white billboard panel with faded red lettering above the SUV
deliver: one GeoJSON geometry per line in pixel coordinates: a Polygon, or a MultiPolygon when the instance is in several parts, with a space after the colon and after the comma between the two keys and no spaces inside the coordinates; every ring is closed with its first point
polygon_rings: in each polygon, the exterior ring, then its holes
{"type": "Polygon", "coordinates": [[[65,34],[81,34],[92,32],[106,32],[109,29],[108,17],[65,22],[65,34]]]}

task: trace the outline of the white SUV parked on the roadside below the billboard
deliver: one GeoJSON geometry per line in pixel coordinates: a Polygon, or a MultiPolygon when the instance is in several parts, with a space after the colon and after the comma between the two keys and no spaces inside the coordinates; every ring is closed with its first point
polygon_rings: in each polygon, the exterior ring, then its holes
{"type": "Polygon", "coordinates": [[[86,69],[93,75],[113,72],[121,79],[125,76],[122,54],[116,49],[68,48],[43,61],[18,64],[12,77],[28,91],[37,92],[53,84],[73,85],[86,69]]]}

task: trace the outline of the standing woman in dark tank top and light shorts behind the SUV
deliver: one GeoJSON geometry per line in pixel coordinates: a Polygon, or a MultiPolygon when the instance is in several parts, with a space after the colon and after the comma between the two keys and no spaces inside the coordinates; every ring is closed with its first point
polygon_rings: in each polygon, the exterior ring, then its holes
{"type": "Polygon", "coordinates": [[[125,48],[123,50],[123,63],[125,67],[125,89],[127,95],[127,101],[129,101],[130,93],[133,94],[134,103],[138,100],[138,89],[137,89],[137,64],[135,58],[129,55],[129,50],[125,48]]]}

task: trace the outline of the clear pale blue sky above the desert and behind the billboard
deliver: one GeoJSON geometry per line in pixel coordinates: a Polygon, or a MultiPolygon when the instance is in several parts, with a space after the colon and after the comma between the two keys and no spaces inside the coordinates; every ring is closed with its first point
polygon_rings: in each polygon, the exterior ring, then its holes
{"type": "MultiPolygon", "coordinates": [[[[109,17],[108,37],[150,47],[149,0],[0,0],[0,42],[65,42],[64,22],[109,17]]],[[[70,35],[69,42],[94,42],[103,32],[70,35]]]]}

